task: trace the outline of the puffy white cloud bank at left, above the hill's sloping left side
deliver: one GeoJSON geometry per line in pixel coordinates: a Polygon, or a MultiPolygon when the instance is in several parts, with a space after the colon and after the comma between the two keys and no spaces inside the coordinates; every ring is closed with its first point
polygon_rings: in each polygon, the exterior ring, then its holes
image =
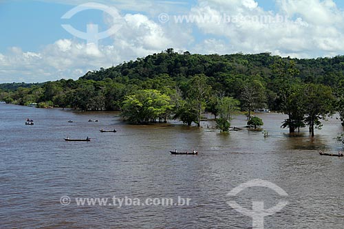
{"type": "Polygon", "coordinates": [[[170,39],[166,28],[143,14],[125,14],[122,20],[107,21],[118,22],[120,30],[111,36],[111,45],[96,46],[75,38],[59,39],[38,52],[10,47],[7,53],[0,54],[0,82],[77,79],[89,70],[135,60],[182,43],[170,39]]]}

